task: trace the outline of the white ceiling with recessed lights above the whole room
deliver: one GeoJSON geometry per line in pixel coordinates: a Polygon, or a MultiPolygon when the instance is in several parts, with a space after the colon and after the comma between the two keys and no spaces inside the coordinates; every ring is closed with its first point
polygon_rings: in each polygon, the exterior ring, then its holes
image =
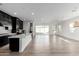
{"type": "Polygon", "coordinates": [[[0,9],[13,16],[37,23],[54,23],[79,16],[77,3],[5,3],[0,9]]]}

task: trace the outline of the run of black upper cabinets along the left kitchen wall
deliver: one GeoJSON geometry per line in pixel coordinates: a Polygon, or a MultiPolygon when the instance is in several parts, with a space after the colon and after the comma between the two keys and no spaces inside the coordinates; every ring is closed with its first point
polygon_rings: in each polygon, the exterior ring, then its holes
{"type": "Polygon", "coordinates": [[[0,10],[0,26],[11,28],[12,33],[23,30],[23,21],[0,10]]]}

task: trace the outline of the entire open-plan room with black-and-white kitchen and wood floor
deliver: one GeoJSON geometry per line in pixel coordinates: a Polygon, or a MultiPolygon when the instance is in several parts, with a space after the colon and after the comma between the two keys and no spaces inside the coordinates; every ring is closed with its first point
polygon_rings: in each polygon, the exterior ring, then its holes
{"type": "Polygon", "coordinates": [[[79,56],[79,3],[0,3],[0,56],[79,56]]]}

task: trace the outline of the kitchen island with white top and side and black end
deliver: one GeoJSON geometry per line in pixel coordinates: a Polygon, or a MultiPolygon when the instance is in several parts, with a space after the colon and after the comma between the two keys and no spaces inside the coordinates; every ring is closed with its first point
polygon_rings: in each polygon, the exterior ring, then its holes
{"type": "Polygon", "coordinates": [[[31,42],[31,34],[20,34],[9,37],[9,49],[13,52],[23,52],[31,42]]]}

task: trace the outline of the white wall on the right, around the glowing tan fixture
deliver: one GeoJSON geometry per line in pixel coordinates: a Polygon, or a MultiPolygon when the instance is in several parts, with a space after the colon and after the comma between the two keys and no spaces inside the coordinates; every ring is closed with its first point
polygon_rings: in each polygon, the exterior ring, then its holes
{"type": "Polygon", "coordinates": [[[72,18],[70,20],[65,20],[57,24],[57,34],[68,37],[70,39],[79,40],[79,28],[74,31],[70,30],[70,23],[79,20],[79,17],[72,18]],[[61,30],[58,29],[58,25],[61,26],[61,30]]]}

